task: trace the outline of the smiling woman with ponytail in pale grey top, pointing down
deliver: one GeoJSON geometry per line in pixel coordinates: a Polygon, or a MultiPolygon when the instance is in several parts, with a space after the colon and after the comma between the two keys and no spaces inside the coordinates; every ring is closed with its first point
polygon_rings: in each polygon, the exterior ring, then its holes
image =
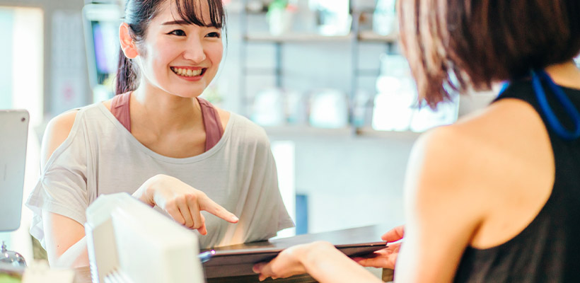
{"type": "Polygon", "coordinates": [[[294,226],[265,131],[198,98],[219,69],[225,18],[221,0],[127,0],[117,96],[55,117],[42,143],[27,204],[51,265],[88,265],[86,208],[115,192],[197,230],[200,248],[294,226]]]}

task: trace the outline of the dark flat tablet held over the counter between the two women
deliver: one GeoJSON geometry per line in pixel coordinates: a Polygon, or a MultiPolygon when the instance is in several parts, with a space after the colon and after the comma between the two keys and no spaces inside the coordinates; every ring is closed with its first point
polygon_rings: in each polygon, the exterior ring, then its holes
{"type": "Polygon", "coordinates": [[[328,241],[351,258],[372,255],[374,251],[385,248],[386,242],[368,241],[371,237],[379,238],[375,233],[361,233],[364,234],[362,238],[359,237],[361,235],[357,236],[358,232],[368,229],[371,227],[214,248],[215,253],[203,263],[205,277],[254,275],[252,267],[255,263],[272,260],[286,248],[313,241],[328,241]]]}

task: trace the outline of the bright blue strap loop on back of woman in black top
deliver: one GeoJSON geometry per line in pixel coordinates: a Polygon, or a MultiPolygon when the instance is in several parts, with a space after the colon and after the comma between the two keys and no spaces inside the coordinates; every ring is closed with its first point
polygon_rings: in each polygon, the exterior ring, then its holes
{"type": "Polygon", "coordinates": [[[540,108],[544,112],[546,116],[546,120],[548,125],[556,132],[556,134],[561,137],[562,139],[577,139],[580,137],[580,113],[574,105],[572,101],[566,96],[566,93],[562,91],[562,88],[557,86],[552,78],[546,74],[545,71],[531,71],[532,74],[532,85],[535,92],[535,97],[538,98],[538,103],[540,103],[540,108]],[[572,121],[574,123],[574,129],[572,131],[567,130],[562,123],[559,122],[558,118],[552,108],[550,108],[550,104],[547,103],[546,93],[542,87],[542,83],[540,83],[540,79],[544,79],[547,81],[548,86],[552,89],[552,92],[555,94],[559,103],[562,104],[564,110],[572,117],[572,121]]]}

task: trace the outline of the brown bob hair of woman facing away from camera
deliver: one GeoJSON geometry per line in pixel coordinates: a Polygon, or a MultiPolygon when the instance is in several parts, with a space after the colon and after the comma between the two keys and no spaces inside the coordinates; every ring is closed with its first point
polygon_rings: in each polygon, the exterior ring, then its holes
{"type": "Polygon", "coordinates": [[[579,0],[398,0],[398,14],[419,98],[431,108],[580,52],[579,0]]]}

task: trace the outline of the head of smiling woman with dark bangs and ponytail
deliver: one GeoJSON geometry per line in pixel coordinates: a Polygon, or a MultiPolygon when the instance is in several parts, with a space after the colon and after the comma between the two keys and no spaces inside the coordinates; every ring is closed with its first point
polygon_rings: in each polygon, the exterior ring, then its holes
{"type": "Polygon", "coordinates": [[[139,70],[151,83],[170,86],[165,91],[178,96],[199,96],[199,91],[214,79],[223,55],[221,30],[225,18],[221,2],[156,2],[158,8],[151,22],[137,21],[143,18],[139,15],[143,9],[127,6],[127,17],[120,28],[121,49],[126,56],[120,57],[117,93],[134,90],[139,83],[132,59],[140,54],[139,70]],[[151,37],[155,40],[145,40],[151,37]],[[182,79],[199,83],[190,85],[182,79]]]}

